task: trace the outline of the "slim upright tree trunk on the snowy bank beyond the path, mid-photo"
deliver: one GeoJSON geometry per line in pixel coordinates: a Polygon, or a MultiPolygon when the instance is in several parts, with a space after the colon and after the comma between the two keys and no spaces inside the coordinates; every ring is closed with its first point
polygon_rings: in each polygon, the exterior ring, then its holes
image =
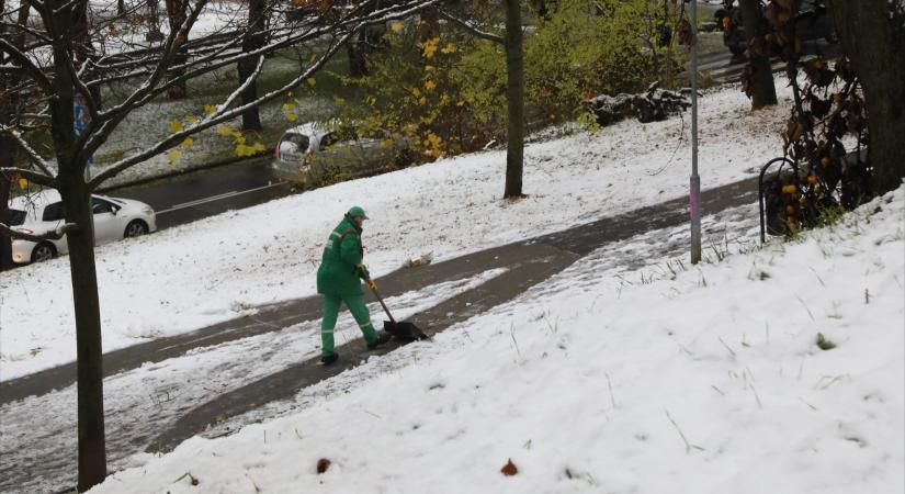
{"type": "Polygon", "coordinates": [[[506,99],[509,132],[506,146],[506,192],[521,198],[524,168],[524,56],[519,0],[506,0],[506,99]]]}

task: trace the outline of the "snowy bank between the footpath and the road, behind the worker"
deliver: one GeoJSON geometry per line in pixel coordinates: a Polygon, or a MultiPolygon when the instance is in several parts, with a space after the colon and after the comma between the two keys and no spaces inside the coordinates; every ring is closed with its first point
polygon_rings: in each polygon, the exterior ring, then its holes
{"type": "MultiPolygon", "coordinates": [[[[781,82],[778,87],[782,88],[781,82]]],[[[781,97],[788,101],[788,91],[781,97]]],[[[784,106],[751,113],[737,87],[701,100],[704,188],[754,176],[781,149],[784,106]]],[[[375,274],[442,260],[681,197],[688,114],[531,144],[524,191],[501,199],[505,151],[445,159],[229,212],[97,250],[104,350],[313,294],[327,233],[358,204],[375,274]]],[[[0,273],[0,379],[75,360],[67,258],[0,273]]]]}

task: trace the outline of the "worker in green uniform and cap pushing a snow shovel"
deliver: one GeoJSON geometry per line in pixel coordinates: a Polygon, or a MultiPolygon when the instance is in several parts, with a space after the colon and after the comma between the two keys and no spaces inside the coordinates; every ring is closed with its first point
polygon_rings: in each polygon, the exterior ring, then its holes
{"type": "MultiPolygon", "coordinates": [[[[324,319],[320,323],[320,361],[333,363],[339,353],[333,349],[333,328],[339,315],[339,306],[346,303],[352,317],[364,334],[367,349],[373,350],[389,341],[392,335],[377,333],[371,324],[371,314],[364,305],[364,291],[361,281],[373,284],[367,268],[362,260],[364,249],[361,246],[361,233],[367,215],[364,210],[354,206],[330,233],[320,267],[317,268],[317,293],[324,295],[324,319]]],[[[375,287],[371,287],[372,289],[375,287]]]]}

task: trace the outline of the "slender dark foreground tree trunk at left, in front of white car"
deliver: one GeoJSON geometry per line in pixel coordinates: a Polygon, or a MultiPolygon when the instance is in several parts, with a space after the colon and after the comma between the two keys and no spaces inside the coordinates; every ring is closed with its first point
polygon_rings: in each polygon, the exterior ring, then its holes
{"type": "MultiPolygon", "coordinates": [[[[70,8],[60,8],[66,0],[49,2],[58,9],[54,21],[63,26],[71,23],[70,8]]],[[[71,25],[71,24],[70,24],[71,25]]],[[[84,492],[106,476],[104,439],[103,370],[101,347],[101,314],[98,300],[98,278],[94,267],[94,223],[89,203],[90,191],[84,183],[84,162],[76,162],[73,128],[73,80],[66,69],[71,50],[69,43],[54,45],[55,98],[50,100],[50,134],[59,164],[59,192],[67,223],[78,225],[67,234],[69,270],[76,313],[76,368],[78,394],[79,478],[78,490],[84,492]]]]}

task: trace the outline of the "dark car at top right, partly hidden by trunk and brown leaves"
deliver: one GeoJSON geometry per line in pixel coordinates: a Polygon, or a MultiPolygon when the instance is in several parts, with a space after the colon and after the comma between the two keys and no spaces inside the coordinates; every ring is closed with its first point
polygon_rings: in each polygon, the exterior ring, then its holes
{"type": "MultiPolygon", "coordinates": [[[[762,9],[762,4],[761,4],[762,9]]],[[[742,23],[742,8],[735,0],[725,0],[723,8],[713,14],[716,24],[723,31],[723,44],[735,56],[742,56],[748,49],[745,27],[742,23]]],[[[802,42],[825,40],[836,42],[836,32],[826,13],[826,7],[819,0],[803,0],[795,18],[795,34],[802,42]]]]}

